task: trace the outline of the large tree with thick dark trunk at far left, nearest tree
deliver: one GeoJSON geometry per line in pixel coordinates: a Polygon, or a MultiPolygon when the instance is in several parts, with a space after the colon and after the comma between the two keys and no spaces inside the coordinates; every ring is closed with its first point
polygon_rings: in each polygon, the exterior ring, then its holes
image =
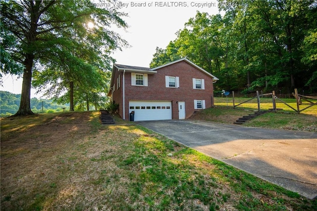
{"type": "MultiPolygon", "coordinates": [[[[109,30],[111,24],[126,27],[121,19],[124,14],[117,12],[115,7],[99,8],[98,4],[91,1],[9,0],[1,2],[1,15],[1,35],[4,33],[8,37],[3,40],[1,53],[10,55],[3,63],[1,60],[1,71],[15,74],[16,68],[10,68],[10,63],[14,64],[12,61],[23,66],[21,103],[15,115],[33,114],[30,108],[30,90],[34,64],[45,67],[56,63],[63,66],[67,63],[71,56],[60,62],[58,58],[62,58],[61,54],[65,54],[66,49],[70,49],[72,45],[80,45],[78,40],[69,39],[69,36],[88,37],[86,34],[89,21],[97,24],[102,36],[93,45],[96,49],[104,49],[105,53],[109,53],[126,44],[119,35],[109,30]],[[13,45],[8,44],[9,41],[13,45]]],[[[85,65],[85,59],[72,54],[72,61],[76,59],[77,65],[85,65]]],[[[71,86],[72,82],[69,83],[71,86]]]]}

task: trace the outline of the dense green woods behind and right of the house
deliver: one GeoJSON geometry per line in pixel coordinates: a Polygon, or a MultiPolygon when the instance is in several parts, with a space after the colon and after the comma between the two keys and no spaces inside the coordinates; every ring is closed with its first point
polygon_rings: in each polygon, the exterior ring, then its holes
{"type": "Polygon", "coordinates": [[[316,2],[230,2],[219,0],[222,16],[198,11],[166,49],[157,47],[151,67],[186,57],[219,78],[219,90],[316,92],[316,2]]]}

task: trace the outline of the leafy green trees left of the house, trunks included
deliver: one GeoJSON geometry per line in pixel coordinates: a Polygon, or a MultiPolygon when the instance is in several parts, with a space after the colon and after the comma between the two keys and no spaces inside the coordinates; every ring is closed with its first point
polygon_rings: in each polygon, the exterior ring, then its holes
{"type": "Polygon", "coordinates": [[[33,86],[47,96],[58,98],[69,89],[71,110],[74,89],[105,91],[106,70],[114,60],[110,54],[127,45],[109,30],[110,25],[127,27],[121,18],[125,14],[117,9],[90,1],[1,2],[1,72],[20,74],[23,69],[27,84],[17,114],[32,114],[33,78],[33,86]],[[89,28],[89,22],[95,27],[89,28]]]}

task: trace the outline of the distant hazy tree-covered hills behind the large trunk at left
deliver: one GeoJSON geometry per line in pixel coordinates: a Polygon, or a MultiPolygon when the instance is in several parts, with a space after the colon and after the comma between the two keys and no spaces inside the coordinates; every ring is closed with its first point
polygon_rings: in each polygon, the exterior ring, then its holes
{"type": "MultiPolygon", "coordinates": [[[[0,115],[1,117],[15,114],[20,106],[21,94],[13,94],[8,91],[0,91],[0,115]]],[[[69,109],[69,104],[59,105],[50,99],[31,98],[31,109],[34,113],[53,113],[69,109]]]]}

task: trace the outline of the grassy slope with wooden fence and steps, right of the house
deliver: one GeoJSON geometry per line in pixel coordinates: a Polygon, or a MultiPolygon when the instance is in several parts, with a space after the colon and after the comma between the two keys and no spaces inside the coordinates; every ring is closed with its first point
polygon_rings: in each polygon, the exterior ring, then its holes
{"type": "MultiPolygon", "coordinates": [[[[251,98],[235,98],[235,105],[245,102],[251,98]]],[[[296,108],[295,99],[282,99],[284,102],[296,108]]],[[[317,102],[317,100],[312,100],[317,102]]],[[[317,131],[317,106],[312,106],[297,114],[294,110],[289,108],[284,103],[276,101],[277,112],[267,113],[255,119],[247,121],[244,126],[247,127],[266,127],[274,129],[293,129],[305,131],[317,131]]],[[[304,102],[304,101],[303,101],[304,102]]],[[[261,110],[268,110],[272,108],[271,98],[261,98],[261,110]]],[[[224,124],[233,124],[237,119],[243,116],[254,113],[258,110],[257,99],[253,99],[247,103],[237,106],[233,109],[232,98],[228,97],[228,105],[225,97],[214,98],[214,108],[202,110],[194,114],[191,119],[205,120],[224,124]]],[[[301,105],[300,109],[308,105],[301,105]]]]}

